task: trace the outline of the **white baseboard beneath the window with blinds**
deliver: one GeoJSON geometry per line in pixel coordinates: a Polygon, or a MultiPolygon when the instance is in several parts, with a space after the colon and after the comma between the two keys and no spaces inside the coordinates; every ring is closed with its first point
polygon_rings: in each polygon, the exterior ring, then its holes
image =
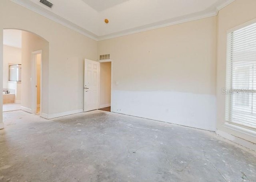
{"type": "Polygon", "coordinates": [[[217,134],[217,135],[220,135],[220,136],[222,136],[222,137],[224,137],[224,138],[226,138],[226,139],[228,139],[228,140],[230,140],[230,141],[232,141],[232,142],[234,142],[234,143],[237,143],[237,144],[239,144],[239,145],[242,145],[242,146],[244,146],[244,147],[246,147],[246,148],[248,148],[248,149],[251,149],[251,150],[253,150],[253,151],[256,151],[256,144],[255,144],[255,143],[252,143],[252,142],[250,142],[250,141],[241,139],[241,138],[236,137],[236,136],[234,136],[234,135],[230,135],[229,133],[226,133],[226,132],[224,132],[224,131],[220,131],[220,130],[218,130],[218,129],[216,130],[216,134],[217,134]]]}

